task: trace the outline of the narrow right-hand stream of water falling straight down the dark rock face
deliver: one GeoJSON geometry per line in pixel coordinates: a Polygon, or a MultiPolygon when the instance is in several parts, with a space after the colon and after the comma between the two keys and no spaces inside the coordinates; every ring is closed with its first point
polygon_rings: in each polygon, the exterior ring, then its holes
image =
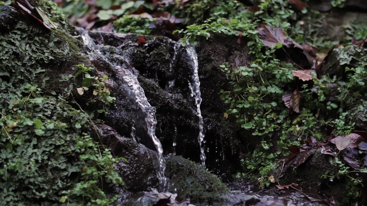
{"type": "Polygon", "coordinates": [[[192,92],[192,96],[195,96],[195,102],[196,102],[196,108],[197,108],[197,116],[199,117],[199,136],[197,137],[197,140],[199,141],[200,146],[200,160],[201,165],[205,168],[205,153],[204,148],[201,147],[201,143],[204,140],[204,122],[203,122],[203,116],[201,116],[201,110],[200,110],[200,104],[201,104],[201,96],[200,96],[200,81],[199,81],[199,63],[197,61],[197,54],[195,51],[195,48],[192,46],[186,47],[186,51],[190,58],[192,58],[193,66],[192,66],[192,82],[189,82],[189,87],[192,92]]]}

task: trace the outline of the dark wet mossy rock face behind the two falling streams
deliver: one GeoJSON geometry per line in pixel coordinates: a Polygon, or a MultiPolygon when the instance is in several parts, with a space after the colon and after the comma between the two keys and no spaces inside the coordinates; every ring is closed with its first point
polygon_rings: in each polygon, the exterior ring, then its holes
{"type": "MultiPolygon", "coordinates": [[[[197,141],[199,119],[195,99],[189,89],[192,71],[185,49],[179,48],[178,43],[164,37],[102,32],[89,34],[95,43],[110,45],[109,49],[102,49],[101,52],[109,55],[112,61],[118,62],[119,56],[124,57],[136,69],[145,96],[156,108],[156,136],[160,139],[164,152],[200,162],[197,141]],[[146,43],[134,43],[139,37],[145,38],[146,43]],[[174,85],[169,87],[168,84],[173,81],[174,85]]],[[[226,105],[219,98],[219,91],[230,85],[227,84],[229,80],[219,65],[223,62],[246,65],[250,61],[246,47],[238,45],[236,38],[227,38],[226,41],[221,41],[224,37],[214,39],[216,40],[196,48],[205,128],[204,145],[207,148],[205,152],[208,168],[217,170],[219,174],[230,175],[239,169],[238,162],[242,152],[240,140],[244,137],[236,133],[235,124],[223,117],[226,105]],[[220,165],[226,166],[218,167],[219,162],[220,165]]],[[[120,91],[116,92],[115,106],[112,106],[106,121],[121,135],[129,137],[133,132],[131,114],[127,109],[126,97],[120,91]]],[[[145,145],[155,150],[152,143],[145,145]]]]}

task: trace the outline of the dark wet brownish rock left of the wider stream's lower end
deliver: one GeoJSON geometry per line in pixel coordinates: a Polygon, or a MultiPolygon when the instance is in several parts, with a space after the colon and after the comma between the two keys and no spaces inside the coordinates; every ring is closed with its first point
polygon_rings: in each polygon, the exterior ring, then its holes
{"type": "Polygon", "coordinates": [[[132,139],[119,135],[107,125],[98,125],[103,136],[103,143],[111,149],[115,157],[123,157],[117,164],[117,171],[130,192],[149,191],[158,184],[153,159],[156,152],[149,150],[132,139]]]}

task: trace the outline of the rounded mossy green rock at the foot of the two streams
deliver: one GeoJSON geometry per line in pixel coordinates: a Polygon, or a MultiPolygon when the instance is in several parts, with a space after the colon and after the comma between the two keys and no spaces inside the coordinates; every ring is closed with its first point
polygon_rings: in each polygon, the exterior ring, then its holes
{"type": "Polygon", "coordinates": [[[188,159],[173,156],[166,164],[166,176],[174,183],[171,192],[177,192],[178,199],[189,198],[191,203],[212,205],[224,201],[222,195],[228,194],[225,184],[188,159]]]}

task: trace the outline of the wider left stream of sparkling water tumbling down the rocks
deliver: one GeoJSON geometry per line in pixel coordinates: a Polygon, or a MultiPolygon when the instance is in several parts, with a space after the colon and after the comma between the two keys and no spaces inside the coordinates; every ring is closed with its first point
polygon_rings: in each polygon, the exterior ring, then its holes
{"type": "Polygon", "coordinates": [[[150,106],[145,97],[143,88],[140,86],[137,77],[127,69],[123,69],[123,81],[125,90],[128,93],[128,101],[134,117],[135,129],[145,131],[152,140],[157,149],[157,177],[161,185],[161,190],[164,190],[167,185],[164,170],[166,169],[166,161],[163,158],[163,148],[159,139],[155,135],[156,130],[156,109],[150,106]]]}

